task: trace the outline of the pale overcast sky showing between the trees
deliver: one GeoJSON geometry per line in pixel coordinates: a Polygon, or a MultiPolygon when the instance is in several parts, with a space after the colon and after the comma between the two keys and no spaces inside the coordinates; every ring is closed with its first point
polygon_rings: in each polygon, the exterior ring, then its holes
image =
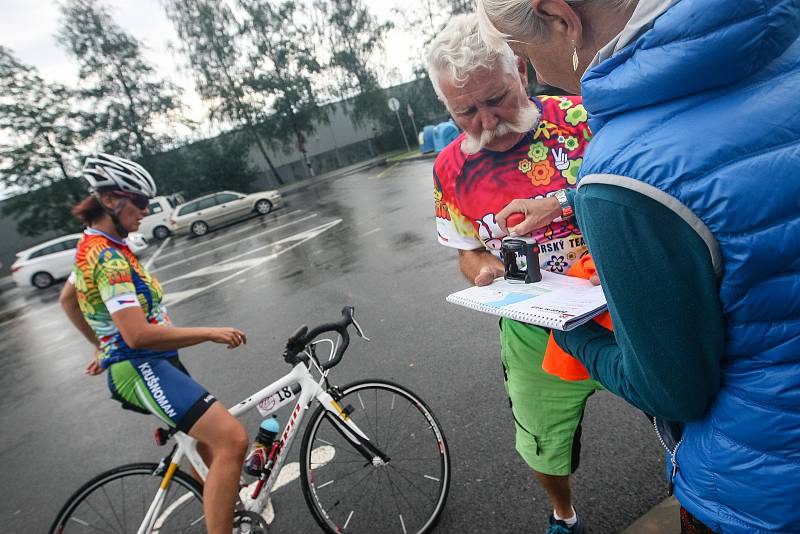
{"type": "MultiPolygon", "coordinates": [[[[73,86],[77,82],[75,61],[56,43],[60,10],[55,0],[0,0],[0,44],[11,48],[25,64],[39,69],[48,81],[73,86]]],[[[114,20],[143,42],[147,58],[156,66],[161,76],[184,88],[184,101],[193,119],[201,122],[204,106],[194,92],[191,75],[182,69],[181,58],[171,54],[167,44],[177,41],[172,24],[158,0],[106,0],[112,8],[114,20]]],[[[392,18],[392,8],[398,0],[366,2],[381,20],[392,18]]],[[[408,2],[404,1],[405,9],[408,2]]],[[[384,83],[409,80],[413,62],[409,55],[411,37],[400,29],[390,32],[382,60],[391,76],[384,83]]],[[[210,133],[210,132],[208,132],[210,133]]],[[[203,137],[203,132],[196,132],[203,137]]]]}

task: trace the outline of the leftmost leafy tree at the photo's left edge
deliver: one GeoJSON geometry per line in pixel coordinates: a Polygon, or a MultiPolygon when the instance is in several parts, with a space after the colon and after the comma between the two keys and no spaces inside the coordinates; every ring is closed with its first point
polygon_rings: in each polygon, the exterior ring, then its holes
{"type": "Polygon", "coordinates": [[[24,235],[78,226],[70,208],[86,189],[75,177],[83,141],[75,100],[0,46],[0,184],[17,194],[3,213],[24,235]]]}

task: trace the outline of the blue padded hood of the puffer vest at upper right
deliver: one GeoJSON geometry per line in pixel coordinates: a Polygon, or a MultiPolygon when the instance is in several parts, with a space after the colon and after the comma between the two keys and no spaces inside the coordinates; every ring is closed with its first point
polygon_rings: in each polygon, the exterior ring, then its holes
{"type": "Polygon", "coordinates": [[[584,74],[590,125],[747,78],[798,35],[800,0],[681,0],[584,74]]]}

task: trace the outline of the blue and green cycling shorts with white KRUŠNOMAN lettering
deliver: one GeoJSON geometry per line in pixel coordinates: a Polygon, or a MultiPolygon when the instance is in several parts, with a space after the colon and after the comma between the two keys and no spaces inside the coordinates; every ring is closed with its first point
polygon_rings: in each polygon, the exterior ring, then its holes
{"type": "Polygon", "coordinates": [[[123,408],[153,414],[181,432],[189,432],[216,401],[177,356],[114,363],[108,369],[108,388],[123,408]]]}

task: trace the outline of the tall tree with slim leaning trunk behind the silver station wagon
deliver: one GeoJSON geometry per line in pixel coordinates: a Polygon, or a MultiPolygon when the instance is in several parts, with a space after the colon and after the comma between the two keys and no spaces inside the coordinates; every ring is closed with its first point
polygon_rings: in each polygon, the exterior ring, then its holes
{"type": "Polygon", "coordinates": [[[283,184],[257,127],[265,119],[266,102],[242,82],[238,59],[245,52],[240,47],[239,23],[233,12],[213,0],[163,0],[163,4],[180,38],[197,90],[209,105],[210,118],[244,127],[277,183],[283,184]]]}

